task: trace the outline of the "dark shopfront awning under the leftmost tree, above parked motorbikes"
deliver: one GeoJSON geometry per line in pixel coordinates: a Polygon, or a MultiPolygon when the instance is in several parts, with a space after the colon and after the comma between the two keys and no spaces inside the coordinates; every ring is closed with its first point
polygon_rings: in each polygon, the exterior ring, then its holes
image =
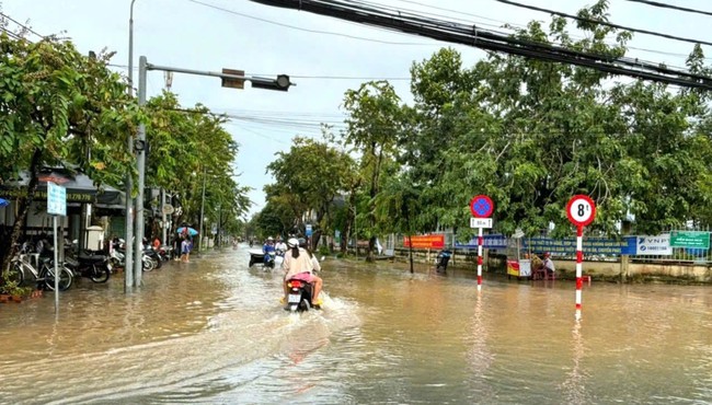
{"type": "MultiPolygon", "coordinates": [[[[47,182],[67,188],[67,202],[88,202],[99,207],[120,208],[124,206],[124,193],[111,186],[97,188],[94,182],[83,173],[71,174],[68,171],[51,170],[37,174],[39,184],[35,192],[35,201],[47,200],[47,182]]],[[[20,198],[27,193],[30,172],[22,172],[19,181],[0,184],[0,197],[20,198]]]]}

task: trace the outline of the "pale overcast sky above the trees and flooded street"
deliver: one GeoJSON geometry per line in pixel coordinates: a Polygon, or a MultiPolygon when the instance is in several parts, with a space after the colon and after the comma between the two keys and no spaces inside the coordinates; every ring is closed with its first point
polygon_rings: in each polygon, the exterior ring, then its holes
{"type": "MultiPolygon", "coordinates": [[[[548,22],[547,13],[495,0],[368,0],[402,11],[436,14],[440,20],[498,30],[548,22]]],[[[594,1],[517,0],[539,8],[575,14],[594,1]]],[[[704,0],[667,1],[712,11],[704,0]]],[[[77,48],[115,51],[113,69],[128,74],[130,0],[0,0],[2,13],[28,25],[36,34],[70,38],[77,48]]],[[[664,10],[628,0],[611,0],[609,21],[631,27],[712,42],[712,16],[664,10]]],[[[16,28],[14,23],[8,26],[16,28]]],[[[33,40],[39,37],[31,34],[33,40]]],[[[574,37],[581,37],[575,31],[574,37]]],[[[184,107],[200,103],[215,113],[239,117],[226,129],[239,143],[238,182],[253,188],[250,215],[265,205],[263,186],[274,182],[266,166],[275,153],[288,151],[294,136],[321,137],[320,123],[344,128],[344,93],[368,80],[388,79],[403,102],[411,103],[410,68],[444,46],[472,66],[485,54],[476,48],[393,33],[367,25],[263,5],[248,0],[135,0],[134,80],[139,56],[149,63],[202,71],[222,68],[246,76],[289,74],[288,92],[262,89],[222,89],[220,79],[174,73],[171,90],[184,107]]],[[[692,44],[634,34],[628,56],[682,67],[692,44]]],[[[712,56],[710,47],[703,47],[712,56]]],[[[712,59],[708,59],[710,61],[712,59]]],[[[161,71],[148,72],[148,96],[165,86],[161,71]]]]}

